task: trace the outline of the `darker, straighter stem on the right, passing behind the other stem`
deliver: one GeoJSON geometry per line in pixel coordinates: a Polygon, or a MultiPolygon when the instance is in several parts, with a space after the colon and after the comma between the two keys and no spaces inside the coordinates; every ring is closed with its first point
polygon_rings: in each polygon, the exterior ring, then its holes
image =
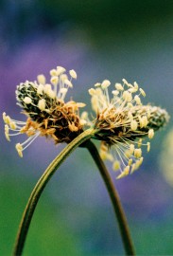
{"type": "Polygon", "coordinates": [[[124,213],[124,210],[121,206],[120,198],[118,193],[116,192],[114,188],[114,184],[112,182],[112,177],[107,171],[107,168],[100,158],[100,155],[98,154],[98,151],[95,147],[95,144],[91,141],[88,140],[85,143],[85,147],[89,150],[90,154],[95,160],[95,164],[105,182],[105,185],[107,187],[107,190],[110,194],[111,200],[112,200],[112,206],[118,221],[122,241],[126,250],[127,255],[135,255],[134,247],[132,245],[132,240],[130,237],[130,230],[128,227],[128,222],[126,219],[126,215],[124,213]]]}

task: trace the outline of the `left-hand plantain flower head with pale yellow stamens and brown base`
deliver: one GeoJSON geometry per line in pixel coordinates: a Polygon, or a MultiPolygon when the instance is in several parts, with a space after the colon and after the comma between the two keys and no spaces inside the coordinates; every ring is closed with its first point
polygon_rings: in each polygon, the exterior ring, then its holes
{"type": "Polygon", "coordinates": [[[20,134],[27,136],[26,141],[16,144],[16,150],[21,157],[36,137],[52,137],[55,143],[68,143],[82,132],[85,120],[79,119],[78,108],[85,104],[64,102],[68,89],[73,87],[72,79],[77,79],[77,73],[70,70],[69,79],[65,71],[61,66],[50,70],[50,83],[46,83],[45,77],[39,75],[36,82],[26,81],[17,86],[17,104],[28,117],[26,121],[11,119],[3,113],[8,140],[20,134]]]}

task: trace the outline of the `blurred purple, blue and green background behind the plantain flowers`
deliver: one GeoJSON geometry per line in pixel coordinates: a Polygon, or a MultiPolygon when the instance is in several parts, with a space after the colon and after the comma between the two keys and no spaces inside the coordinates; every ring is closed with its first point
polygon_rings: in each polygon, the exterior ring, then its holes
{"type": "MultiPolygon", "coordinates": [[[[173,1],[0,1],[0,112],[25,119],[15,86],[62,65],[78,80],[72,95],[91,111],[95,82],[137,81],[151,102],[173,112],[173,1]]],[[[0,255],[10,255],[27,198],[64,145],[38,138],[21,159],[0,121],[0,255]]],[[[173,255],[173,188],[164,137],[158,132],[140,171],[114,184],[126,210],[138,255],[173,255]],[[167,165],[164,165],[166,163],[167,165]]],[[[169,137],[170,139],[172,137],[169,137]]],[[[170,139],[168,139],[170,141],[170,139]]],[[[173,143],[169,145],[169,149],[173,143]]],[[[172,165],[171,165],[172,164],[172,165]]],[[[171,168],[170,168],[171,167],[171,168]]],[[[78,149],[54,175],[39,202],[24,255],[123,255],[108,193],[93,159],[78,149]]]]}

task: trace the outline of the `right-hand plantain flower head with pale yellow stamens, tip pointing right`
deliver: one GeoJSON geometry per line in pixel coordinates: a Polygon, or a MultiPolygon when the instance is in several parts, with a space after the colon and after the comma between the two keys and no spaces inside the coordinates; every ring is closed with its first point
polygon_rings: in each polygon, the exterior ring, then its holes
{"type": "Polygon", "coordinates": [[[95,138],[101,140],[100,155],[112,161],[112,169],[120,171],[117,178],[121,178],[140,167],[144,159],[142,146],[150,150],[150,142],[144,142],[144,137],[154,137],[154,131],[164,125],[168,115],[161,108],[142,104],[141,96],[146,93],[137,82],[131,84],[123,79],[122,84],[115,83],[112,99],[110,84],[108,80],[96,83],[89,93],[96,113],[95,138]]]}

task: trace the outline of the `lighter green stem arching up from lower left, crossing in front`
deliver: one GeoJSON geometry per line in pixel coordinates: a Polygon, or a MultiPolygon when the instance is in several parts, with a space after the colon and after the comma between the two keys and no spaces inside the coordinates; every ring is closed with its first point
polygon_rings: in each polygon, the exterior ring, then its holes
{"type": "Polygon", "coordinates": [[[44,187],[46,186],[49,179],[56,172],[57,168],[61,165],[61,163],[65,160],[65,158],[70,155],[80,144],[82,144],[87,139],[91,138],[95,134],[94,129],[88,129],[78,137],[76,137],[72,142],[70,142],[62,151],[61,154],[58,155],[51,164],[47,167],[39,181],[37,182],[34,190],[31,192],[30,197],[28,199],[26,210],[24,211],[18,234],[16,237],[15,245],[14,245],[14,256],[22,255],[23,248],[26,242],[26,235],[29,229],[29,225],[34,213],[34,210],[37,206],[39,198],[43,192],[44,187]]]}

